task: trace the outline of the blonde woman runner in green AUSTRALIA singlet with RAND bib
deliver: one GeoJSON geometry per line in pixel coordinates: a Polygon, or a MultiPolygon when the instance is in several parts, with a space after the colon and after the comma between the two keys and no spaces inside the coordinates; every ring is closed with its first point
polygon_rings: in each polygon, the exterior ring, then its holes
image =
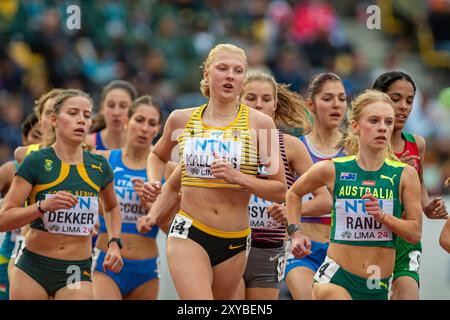
{"type": "Polygon", "coordinates": [[[397,236],[420,241],[420,181],[415,169],[395,161],[390,150],[394,116],[384,93],[359,95],[345,143],[352,156],[316,163],[287,193],[288,233],[296,257],[309,254],[311,245],[296,225],[301,197],[322,185],[332,194],[330,246],[314,276],[314,299],[387,300],[397,236]]]}

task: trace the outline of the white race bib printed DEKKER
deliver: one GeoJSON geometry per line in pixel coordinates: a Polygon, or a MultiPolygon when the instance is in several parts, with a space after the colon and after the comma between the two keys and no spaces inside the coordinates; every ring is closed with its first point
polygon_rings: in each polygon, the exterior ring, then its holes
{"type": "MultiPolygon", "coordinates": [[[[50,195],[46,195],[48,198],[50,195]]],[[[45,229],[50,233],[88,236],[98,219],[98,198],[77,197],[78,203],[70,209],[44,213],[45,229]]]]}

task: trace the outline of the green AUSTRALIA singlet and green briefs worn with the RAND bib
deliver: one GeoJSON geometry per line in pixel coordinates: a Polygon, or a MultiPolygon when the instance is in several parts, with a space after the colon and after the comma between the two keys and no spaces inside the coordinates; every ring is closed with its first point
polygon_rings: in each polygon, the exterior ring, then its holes
{"type": "Polygon", "coordinates": [[[335,166],[335,183],[332,194],[331,244],[325,261],[314,276],[314,282],[339,285],[354,300],[387,300],[391,276],[379,279],[378,286],[370,286],[367,278],[341,267],[332,258],[332,249],[335,248],[334,244],[396,248],[397,235],[366,212],[366,200],[362,197],[371,193],[378,199],[385,215],[401,218],[403,204],[400,201],[400,179],[406,164],[385,159],[380,169],[365,171],[356,162],[356,156],[332,160],[335,166]]]}

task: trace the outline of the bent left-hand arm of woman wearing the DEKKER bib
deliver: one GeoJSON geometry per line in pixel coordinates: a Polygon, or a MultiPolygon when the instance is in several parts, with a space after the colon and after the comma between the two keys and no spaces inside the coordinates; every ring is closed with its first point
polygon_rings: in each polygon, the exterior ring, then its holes
{"type": "MultiPolygon", "coordinates": [[[[42,216],[37,204],[23,207],[32,189],[32,185],[20,176],[14,177],[10,191],[0,210],[0,232],[23,227],[42,216]]],[[[60,191],[41,201],[41,209],[45,212],[59,209],[70,209],[78,199],[70,193],[60,191]]]]}

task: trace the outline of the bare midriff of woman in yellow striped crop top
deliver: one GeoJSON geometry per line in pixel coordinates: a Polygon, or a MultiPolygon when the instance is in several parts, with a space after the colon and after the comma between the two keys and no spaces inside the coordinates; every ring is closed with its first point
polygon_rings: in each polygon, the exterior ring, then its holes
{"type": "Polygon", "coordinates": [[[249,227],[250,196],[247,191],[182,187],[180,208],[210,228],[243,231],[249,227]]]}

